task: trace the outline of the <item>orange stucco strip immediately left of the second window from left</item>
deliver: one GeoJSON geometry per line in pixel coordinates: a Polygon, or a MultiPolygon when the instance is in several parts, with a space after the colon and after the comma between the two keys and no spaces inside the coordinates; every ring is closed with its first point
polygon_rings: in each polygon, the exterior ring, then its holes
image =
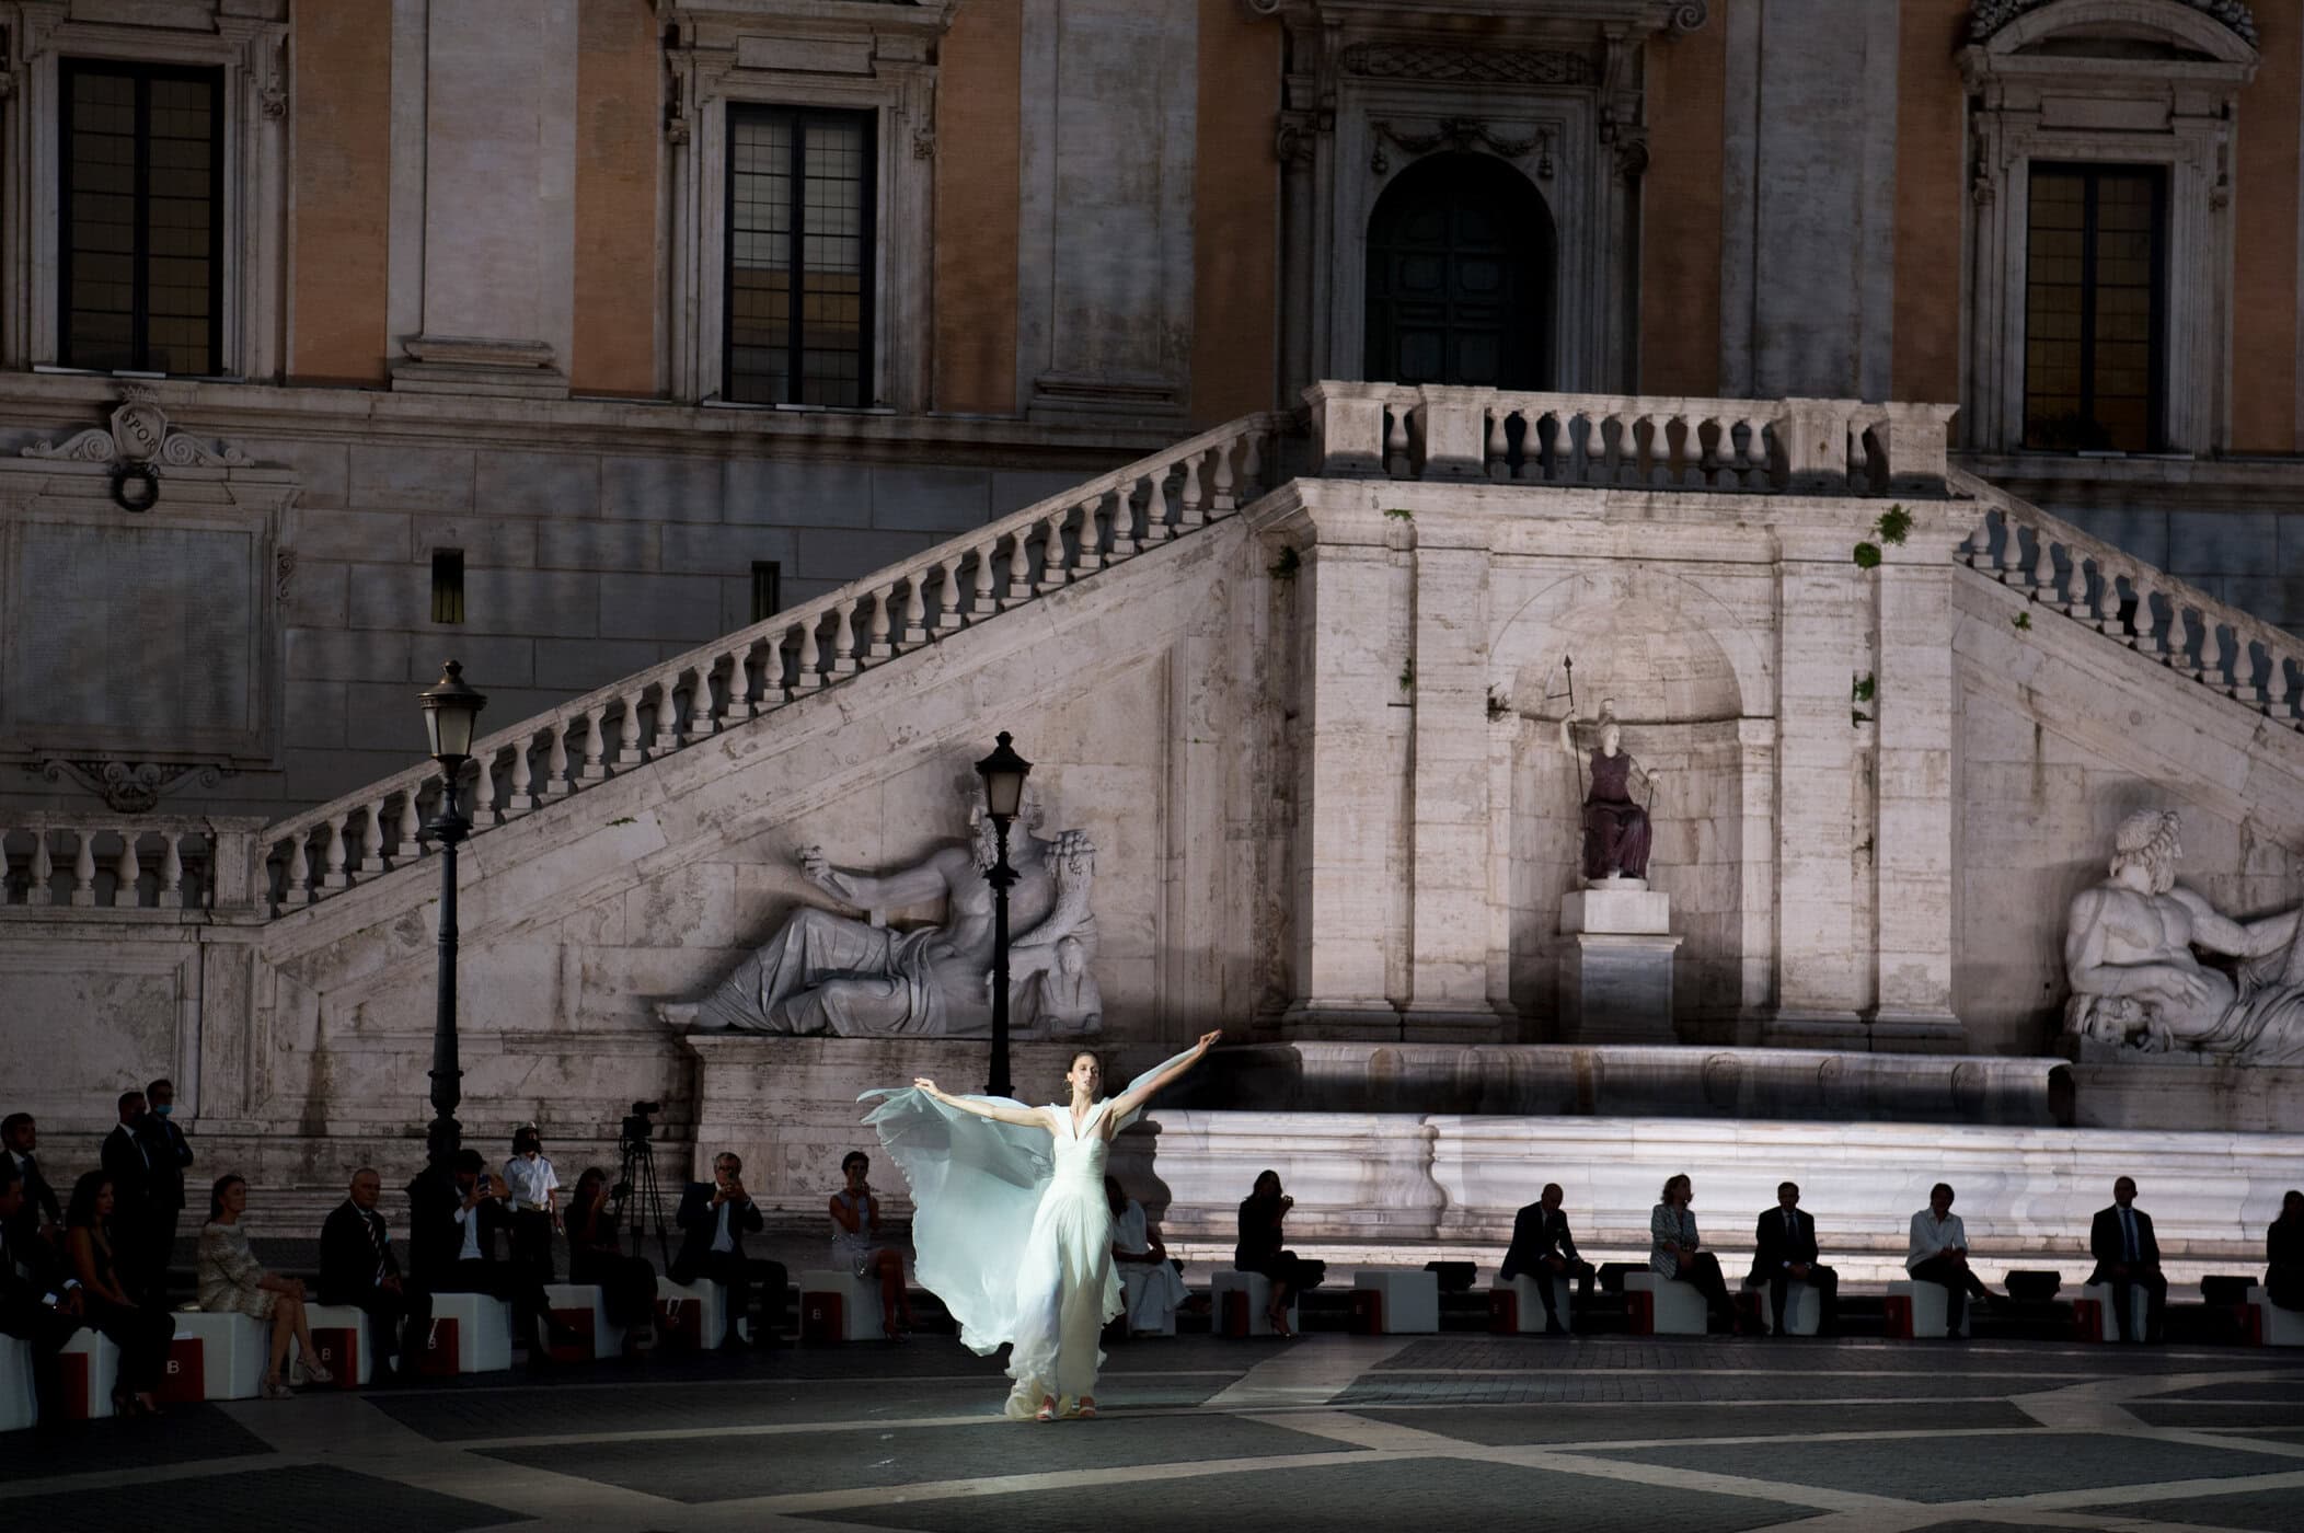
{"type": "Polygon", "coordinates": [[[569,385],[657,392],[657,25],[647,0],[583,0],[576,32],[576,323],[569,385]]]}

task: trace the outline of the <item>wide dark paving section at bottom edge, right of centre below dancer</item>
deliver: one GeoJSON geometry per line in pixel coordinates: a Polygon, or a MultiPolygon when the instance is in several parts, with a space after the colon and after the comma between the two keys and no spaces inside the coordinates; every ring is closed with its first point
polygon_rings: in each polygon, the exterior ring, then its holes
{"type": "MultiPolygon", "coordinates": [[[[1099,1434],[1101,1436],[1101,1434],[1099,1434]]],[[[1025,1492],[809,1512],[811,1521],[938,1533],[1334,1533],[1336,1528],[1576,1528],[1576,1533],[1657,1533],[1703,1528],[1740,1533],[1809,1517],[1804,1508],[1744,1496],[1663,1489],[1627,1480],[1560,1475],[1514,1464],[1399,1459],[1263,1468],[1237,1475],[1154,1480],[1120,1489],[1025,1492]],[[1534,1512],[1541,1508],[1541,1521],[1534,1512]]]]}

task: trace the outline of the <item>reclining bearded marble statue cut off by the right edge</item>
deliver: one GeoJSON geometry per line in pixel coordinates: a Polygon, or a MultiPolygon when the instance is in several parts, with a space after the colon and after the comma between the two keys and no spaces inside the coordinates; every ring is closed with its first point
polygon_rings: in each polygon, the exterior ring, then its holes
{"type": "Polygon", "coordinates": [[[2110,878],[2071,901],[2064,1030],[2138,1054],[2304,1063],[2304,945],[2297,911],[2230,920],[2175,881],[2173,809],[2120,821],[2110,878]],[[2237,982],[2193,957],[2237,959],[2237,982]]]}

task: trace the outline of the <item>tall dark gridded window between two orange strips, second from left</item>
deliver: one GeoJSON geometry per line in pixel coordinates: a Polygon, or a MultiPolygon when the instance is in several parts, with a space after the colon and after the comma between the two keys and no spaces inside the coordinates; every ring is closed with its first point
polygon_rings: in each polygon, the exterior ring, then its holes
{"type": "Polygon", "coordinates": [[[728,387],[869,406],[873,113],[728,108],[728,387]]]}

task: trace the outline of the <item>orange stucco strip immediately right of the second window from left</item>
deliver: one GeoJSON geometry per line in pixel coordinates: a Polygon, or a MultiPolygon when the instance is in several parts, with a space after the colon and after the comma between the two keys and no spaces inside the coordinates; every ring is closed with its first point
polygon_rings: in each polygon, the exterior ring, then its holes
{"type": "Polygon", "coordinates": [[[935,88],[935,408],[1016,408],[1023,0],[968,0],[935,88]]]}

